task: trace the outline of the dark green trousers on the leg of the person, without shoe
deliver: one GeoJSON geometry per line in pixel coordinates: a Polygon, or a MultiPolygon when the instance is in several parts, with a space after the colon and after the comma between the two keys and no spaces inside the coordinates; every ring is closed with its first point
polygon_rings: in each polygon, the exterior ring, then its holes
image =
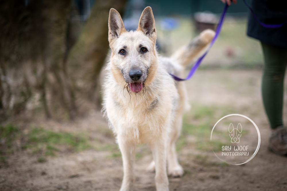
{"type": "Polygon", "coordinates": [[[272,129],[283,125],[284,74],[287,49],[261,42],[264,55],[262,98],[272,129]]]}

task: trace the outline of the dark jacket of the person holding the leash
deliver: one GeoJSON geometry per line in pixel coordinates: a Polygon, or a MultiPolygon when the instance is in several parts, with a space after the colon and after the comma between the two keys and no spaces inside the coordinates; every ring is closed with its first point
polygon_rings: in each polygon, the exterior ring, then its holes
{"type": "MultiPolygon", "coordinates": [[[[253,0],[251,7],[262,23],[280,24],[287,20],[287,0],[253,0]]],[[[247,35],[287,49],[287,24],[277,29],[265,28],[249,13],[247,35]]]]}

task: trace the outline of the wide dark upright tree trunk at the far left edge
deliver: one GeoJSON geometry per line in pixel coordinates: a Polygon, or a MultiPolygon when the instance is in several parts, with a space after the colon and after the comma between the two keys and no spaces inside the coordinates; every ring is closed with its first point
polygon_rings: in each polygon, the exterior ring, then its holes
{"type": "Polygon", "coordinates": [[[1,117],[43,108],[47,117],[70,118],[75,105],[64,58],[71,0],[27,2],[0,5],[1,117]]]}

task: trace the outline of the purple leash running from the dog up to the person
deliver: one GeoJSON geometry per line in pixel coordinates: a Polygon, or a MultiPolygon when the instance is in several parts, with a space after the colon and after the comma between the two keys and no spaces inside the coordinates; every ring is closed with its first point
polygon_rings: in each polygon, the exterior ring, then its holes
{"type": "MultiPolygon", "coordinates": [[[[282,27],[284,24],[287,23],[287,21],[285,21],[284,23],[281,23],[281,24],[265,24],[265,23],[262,23],[259,21],[259,19],[255,16],[252,8],[245,2],[245,0],[243,0],[243,2],[245,3],[245,5],[250,9],[252,15],[255,17],[255,19],[259,22],[260,25],[262,25],[263,27],[265,28],[279,28],[279,27],[282,27]]],[[[183,80],[188,80],[190,79],[194,72],[197,70],[197,68],[199,67],[201,61],[203,60],[203,58],[206,56],[206,54],[209,52],[209,50],[211,49],[212,45],[214,44],[214,42],[216,41],[218,35],[220,34],[220,31],[221,31],[221,27],[222,27],[222,24],[223,24],[223,21],[224,21],[224,17],[225,17],[225,13],[227,11],[227,8],[228,8],[228,5],[227,3],[225,3],[225,6],[224,6],[224,9],[221,13],[221,16],[220,16],[220,19],[219,19],[219,22],[218,22],[218,25],[216,26],[216,30],[215,30],[215,36],[214,38],[212,39],[210,45],[208,46],[208,49],[205,51],[205,53],[200,57],[198,58],[198,60],[195,62],[195,64],[192,66],[191,70],[189,71],[187,77],[185,79],[182,79],[182,78],[179,78],[173,74],[170,74],[172,76],[172,78],[174,78],[174,80],[176,81],[183,81],[183,80]]]]}

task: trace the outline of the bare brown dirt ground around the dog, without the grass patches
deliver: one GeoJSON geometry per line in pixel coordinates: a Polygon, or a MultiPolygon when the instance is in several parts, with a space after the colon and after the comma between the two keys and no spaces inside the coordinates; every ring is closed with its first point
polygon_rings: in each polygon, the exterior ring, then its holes
{"type": "MultiPolygon", "coordinates": [[[[194,143],[196,134],[181,135],[178,156],[185,174],[181,178],[169,178],[170,190],[287,190],[287,157],[267,149],[269,126],[261,103],[261,73],[259,70],[199,70],[186,82],[192,109],[185,115],[185,123],[210,121],[212,127],[223,114],[240,113],[259,127],[261,145],[251,161],[235,166],[223,164],[212,150],[198,149],[194,143]],[[216,109],[211,115],[207,113],[210,117],[203,112],[201,118],[196,118],[196,112],[202,111],[202,107],[216,109]]],[[[286,108],[285,104],[284,111],[286,108]]],[[[285,112],[285,121],[286,118],[285,112]]],[[[23,131],[39,126],[55,132],[85,133],[92,147],[79,151],[60,149],[40,162],[38,154],[25,149],[6,154],[5,165],[0,166],[1,191],[119,190],[122,160],[115,139],[99,112],[90,111],[88,116],[73,122],[36,118],[12,123],[23,131]]],[[[210,132],[211,129],[202,141],[209,139],[210,132]]],[[[16,140],[13,144],[21,142],[16,140]]],[[[155,174],[145,170],[152,160],[148,147],[140,145],[136,158],[134,190],[155,190],[155,174]]]]}

